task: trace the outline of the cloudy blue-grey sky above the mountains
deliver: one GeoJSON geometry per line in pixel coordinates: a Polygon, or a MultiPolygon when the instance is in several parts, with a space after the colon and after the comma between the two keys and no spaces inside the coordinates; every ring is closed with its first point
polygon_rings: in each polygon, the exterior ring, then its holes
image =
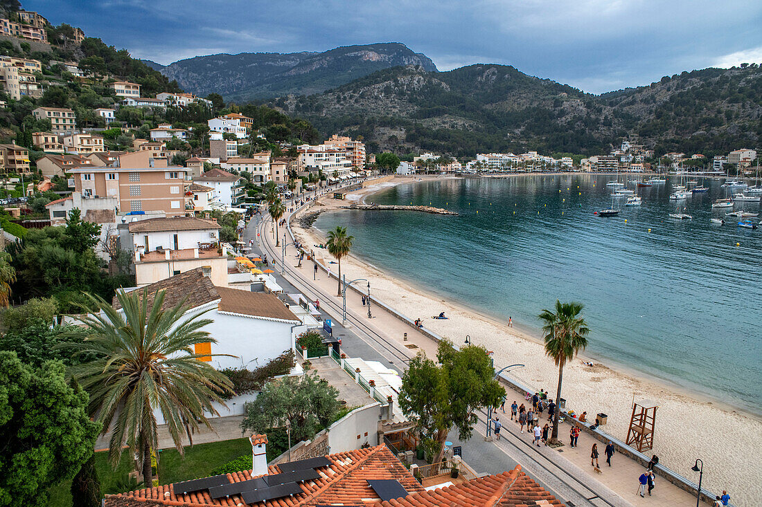
{"type": "Polygon", "coordinates": [[[514,65],[591,93],[762,63],[759,0],[22,0],[53,24],[168,64],[400,42],[440,70],[514,65]]]}

